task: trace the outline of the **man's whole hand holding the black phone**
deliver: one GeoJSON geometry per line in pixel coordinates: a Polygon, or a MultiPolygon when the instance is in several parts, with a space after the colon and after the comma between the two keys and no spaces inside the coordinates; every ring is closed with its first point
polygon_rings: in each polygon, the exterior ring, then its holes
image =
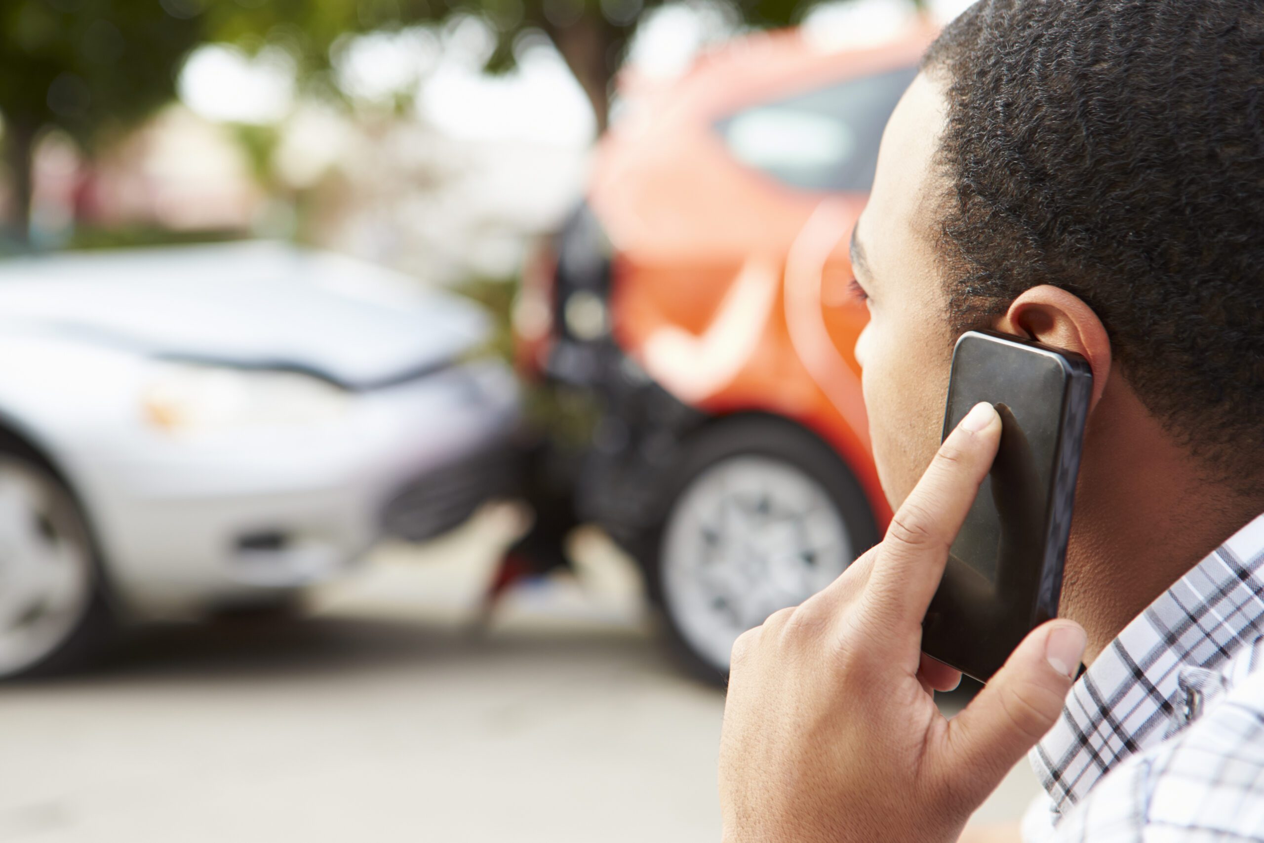
{"type": "Polygon", "coordinates": [[[990,404],[944,440],[886,537],[733,647],[719,789],[726,843],[954,840],[1053,725],[1085,647],[1050,621],[961,714],[921,618],[1000,441],[990,404]]]}

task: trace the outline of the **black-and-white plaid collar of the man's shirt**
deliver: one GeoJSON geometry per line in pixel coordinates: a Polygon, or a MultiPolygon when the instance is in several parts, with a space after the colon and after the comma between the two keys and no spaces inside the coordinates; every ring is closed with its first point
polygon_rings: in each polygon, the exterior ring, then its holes
{"type": "Polygon", "coordinates": [[[1133,619],[1071,689],[1031,749],[1062,813],[1119,761],[1163,739],[1178,670],[1215,667],[1264,631],[1264,516],[1208,554],[1133,619]]]}

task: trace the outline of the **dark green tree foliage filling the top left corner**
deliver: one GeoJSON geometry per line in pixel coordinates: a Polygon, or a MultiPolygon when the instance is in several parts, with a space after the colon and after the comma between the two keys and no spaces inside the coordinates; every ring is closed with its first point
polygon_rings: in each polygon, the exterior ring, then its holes
{"type": "Polygon", "coordinates": [[[185,54],[204,37],[201,13],[198,0],[0,3],[0,116],[19,239],[28,234],[39,134],[56,126],[91,149],[167,102],[185,54]]]}

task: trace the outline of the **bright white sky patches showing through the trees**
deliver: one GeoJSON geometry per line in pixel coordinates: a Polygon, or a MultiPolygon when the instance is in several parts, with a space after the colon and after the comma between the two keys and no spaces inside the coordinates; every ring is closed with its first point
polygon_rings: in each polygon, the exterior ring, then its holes
{"type": "MultiPolygon", "coordinates": [[[[969,0],[930,3],[940,20],[968,5],[969,0]]],[[[817,43],[844,47],[890,37],[910,10],[908,0],[843,0],[814,9],[804,28],[817,43]]],[[[666,5],[642,21],[628,49],[628,64],[638,73],[670,77],[724,34],[727,24],[713,6],[666,5]]],[[[489,49],[482,24],[458,19],[437,32],[415,28],[349,40],[339,51],[335,76],[344,91],[367,102],[402,90],[418,91],[420,115],[455,138],[574,148],[592,143],[588,100],[547,39],[520,42],[518,67],[502,76],[480,70],[489,49]]],[[[277,123],[295,107],[293,68],[277,51],[246,57],[233,47],[205,45],[185,64],[179,96],[191,110],[214,120],[277,123]]]]}

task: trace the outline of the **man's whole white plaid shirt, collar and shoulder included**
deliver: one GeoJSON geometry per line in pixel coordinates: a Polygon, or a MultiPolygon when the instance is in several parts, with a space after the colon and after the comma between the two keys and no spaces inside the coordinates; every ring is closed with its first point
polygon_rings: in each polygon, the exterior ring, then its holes
{"type": "Polygon", "coordinates": [[[1264,516],[1138,616],[1031,751],[1060,842],[1264,840],[1264,516]],[[1109,773],[1109,775],[1107,775],[1109,773]]]}

